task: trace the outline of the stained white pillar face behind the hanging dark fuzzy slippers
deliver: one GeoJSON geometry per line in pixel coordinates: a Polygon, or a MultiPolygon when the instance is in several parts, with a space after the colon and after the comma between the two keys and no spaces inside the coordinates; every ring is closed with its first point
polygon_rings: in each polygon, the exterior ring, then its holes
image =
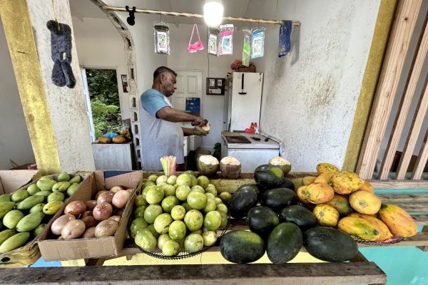
{"type": "Polygon", "coordinates": [[[54,61],[51,59],[51,32],[46,22],[58,19],[73,30],[70,7],[67,0],[37,1],[29,0],[31,24],[34,28],[36,47],[39,53],[41,73],[44,78],[46,98],[51,112],[52,126],[58,149],[61,170],[95,170],[91,137],[83,94],[81,75],[74,40],[71,49],[76,86],[58,87],[51,81],[54,61]]]}

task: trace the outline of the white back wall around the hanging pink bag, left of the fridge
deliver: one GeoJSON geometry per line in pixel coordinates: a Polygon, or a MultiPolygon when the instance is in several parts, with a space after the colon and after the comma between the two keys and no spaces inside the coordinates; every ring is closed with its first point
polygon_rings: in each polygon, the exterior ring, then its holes
{"type": "MultiPolygon", "coordinates": [[[[198,24],[200,39],[205,45],[203,51],[188,53],[188,43],[192,32],[193,24],[180,24],[177,28],[170,25],[171,51],[168,56],[168,67],[179,70],[199,70],[203,71],[202,81],[202,113],[203,118],[210,121],[211,130],[203,138],[202,147],[213,149],[215,142],[222,142],[221,131],[223,130],[223,95],[206,95],[206,78],[226,78],[226,73],[232,72],[230,63],[235,58],[241,58],[243,48],[243,33],[235,31],[233,37],[233,55],[230,56],[209,56],[208,72],[208,51],[207,51],[207,27],[205,24],[198,24]]],[[[193,35],[194,43],[198,36],[193,35]]]]}

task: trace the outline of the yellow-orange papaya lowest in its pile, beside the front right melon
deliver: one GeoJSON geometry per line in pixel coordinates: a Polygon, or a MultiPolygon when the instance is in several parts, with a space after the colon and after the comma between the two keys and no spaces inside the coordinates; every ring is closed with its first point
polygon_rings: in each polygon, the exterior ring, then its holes
{"type": "Polygon", "coordinates": [[[337,227],[347,234],[368,241],[378,241],[380,232],[377,224],[362,217],[344,217],[337,223],[337,227]]]}

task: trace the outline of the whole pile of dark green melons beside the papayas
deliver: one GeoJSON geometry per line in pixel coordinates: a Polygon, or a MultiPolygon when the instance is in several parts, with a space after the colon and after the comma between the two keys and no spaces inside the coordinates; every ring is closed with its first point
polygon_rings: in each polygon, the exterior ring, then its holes
{"type": "Polygon", "coordinates": [[[260,165],[254,179],[256,184],[240,186],[228,202],[230,215],[245,217],[250,231],[234,230],[220,239],[220,253],[226,260],[250,263],[266,252],[273,264],[284,264],[302,246],[313,257],[330,262],[357,255],[352,237],[332,227],[317,227],[312,212],[297,204],[294,184],[280,167],[260,165]]]}

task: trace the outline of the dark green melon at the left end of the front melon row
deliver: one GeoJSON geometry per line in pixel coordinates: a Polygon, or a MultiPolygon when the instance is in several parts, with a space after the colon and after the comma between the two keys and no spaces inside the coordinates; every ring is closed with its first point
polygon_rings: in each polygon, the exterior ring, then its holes
{"type": "Polygon", "coordinates": [[[265,254],[265,242],[254,232],[238,229],[220,239],[220,254],[233,263],[250,263],[265,254]]]}

